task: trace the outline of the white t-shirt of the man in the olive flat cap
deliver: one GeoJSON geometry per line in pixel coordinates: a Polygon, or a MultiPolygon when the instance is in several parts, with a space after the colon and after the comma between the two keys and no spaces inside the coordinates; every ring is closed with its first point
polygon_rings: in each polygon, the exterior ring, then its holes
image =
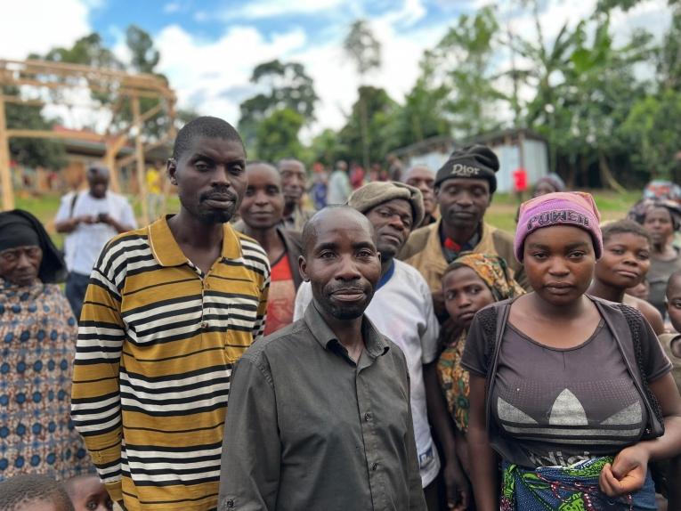
{"type": "MultiPolygon", "coordinates": [[[[428,424],[423,365],[433,362],[437,357],[440,327],[426,280],[409,264],[396,259],[393,261],[392,277],[378,288],[365,313],[378,331],[400,346],[407,359],[411,379],[411,415],[421,484],[425,488],[440,471],[440,459],[428,424]]],[[[294,320],[304,316],[310,302],[312,286],[310,282],[303,282],[296,294],[294,320]]]]}

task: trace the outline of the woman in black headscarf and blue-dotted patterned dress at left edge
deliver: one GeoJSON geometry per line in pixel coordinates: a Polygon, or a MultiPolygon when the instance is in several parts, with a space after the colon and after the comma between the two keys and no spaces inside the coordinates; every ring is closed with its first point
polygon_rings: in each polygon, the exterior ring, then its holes
{"type": "Polygon", "coordinates": [[[90,468],[69,420],[77,321],[54,284],[64,275],[35,216],[0,213],[0,481],[90,468]]]}

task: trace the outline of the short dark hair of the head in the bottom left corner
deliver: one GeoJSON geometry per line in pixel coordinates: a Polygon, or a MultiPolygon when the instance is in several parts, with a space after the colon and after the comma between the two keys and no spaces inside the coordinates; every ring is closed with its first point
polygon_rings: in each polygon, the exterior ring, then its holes
{"type": "Polygon", "coordinates": [[[54,504],[59,511],[74,511],[66,490],[46,475],[22,474],[0,483],[0,511],[41,501],[54,504]]]}

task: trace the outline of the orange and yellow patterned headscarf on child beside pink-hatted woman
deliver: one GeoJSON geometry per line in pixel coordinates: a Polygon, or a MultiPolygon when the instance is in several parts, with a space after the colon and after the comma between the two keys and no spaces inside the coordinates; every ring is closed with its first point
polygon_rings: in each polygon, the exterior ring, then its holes
{"type": "Polygon", "coordinates": [[[513,278],[513,273],[506,261],[499,255],[464,252],[452,261],[445,274],[461,266],[467,266],[477,273],[490,288],[495,302],[525,294],[525,290],[513,278]]]}

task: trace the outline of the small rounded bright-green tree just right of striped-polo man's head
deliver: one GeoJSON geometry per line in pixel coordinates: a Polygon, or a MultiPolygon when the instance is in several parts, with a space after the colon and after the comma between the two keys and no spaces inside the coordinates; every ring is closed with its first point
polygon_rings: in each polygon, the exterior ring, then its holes
{"type": "Polygon", "coordinates": [[[280,158],[301,158],[303,146],[298,132],[304,117],[289,108],[274,110],[257,125],[255,152],[258,159],[277,161],[280,158]]]}

